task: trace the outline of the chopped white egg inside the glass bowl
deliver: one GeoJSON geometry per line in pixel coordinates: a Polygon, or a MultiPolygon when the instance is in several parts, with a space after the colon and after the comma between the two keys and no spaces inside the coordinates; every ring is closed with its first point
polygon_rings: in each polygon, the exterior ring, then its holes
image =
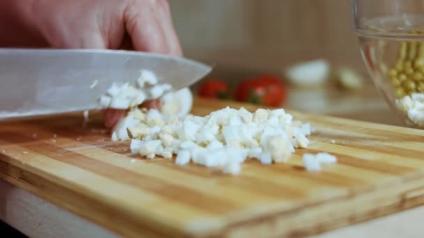
{"type": "Polygon", "coordinates": [[[406,95],[396,105],[415,125],[424,127],[424,93],[406,95]]]}

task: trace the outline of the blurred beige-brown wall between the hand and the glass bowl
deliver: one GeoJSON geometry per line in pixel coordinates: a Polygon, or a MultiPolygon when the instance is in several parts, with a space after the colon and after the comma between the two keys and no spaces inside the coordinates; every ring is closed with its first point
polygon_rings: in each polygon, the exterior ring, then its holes
{"type": "Polygon", "coordinates": [[[289,63],[319,57],[365,70],[351,31],[348,0],[170,0],[169,4],[186,56],[217,63],[215,74],[243,77],[250,73],[246,70],[280,74],[289,63]]]}

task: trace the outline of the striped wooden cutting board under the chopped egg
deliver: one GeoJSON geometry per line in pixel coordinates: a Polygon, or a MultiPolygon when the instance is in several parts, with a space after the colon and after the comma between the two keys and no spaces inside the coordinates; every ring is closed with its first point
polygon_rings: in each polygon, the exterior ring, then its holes
{"type": "MultiPolygon", "coordinates": [[[[193,113],[225,106],[196,100],[193,113]]],[[[293,113],[317,132],[287,164],[241,175],[132,156],[100,116],[0,124],[0,176],[125,237],[301,237],[424,203],[424,131],[293,113]],[[331,143],[334,140],[335,143],[331,143]],[[305,152],[339,163],[303,168],[305,152]]]]}

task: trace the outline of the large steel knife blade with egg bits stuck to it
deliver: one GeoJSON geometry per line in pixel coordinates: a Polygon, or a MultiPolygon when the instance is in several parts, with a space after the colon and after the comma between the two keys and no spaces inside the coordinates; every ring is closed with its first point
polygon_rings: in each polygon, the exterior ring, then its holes
{"type": "Polygon", "coordinates": [[[0,120],[98,109],[98,98],[112,83],[135,84],[140,70],[179,90],[212,68],[136,51],[0,48],[0,120]]]}

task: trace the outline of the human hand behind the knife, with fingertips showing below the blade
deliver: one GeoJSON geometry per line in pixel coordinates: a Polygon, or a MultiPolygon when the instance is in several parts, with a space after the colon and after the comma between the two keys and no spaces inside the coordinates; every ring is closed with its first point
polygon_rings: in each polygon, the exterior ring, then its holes
{"type": "MultiPolygon", "coordinates": [[[[24,23],[11,35],[20,46],[182,54],[166,0],[10,1],[24,23]]],[[[159,105],[158,100],[146,102],[150,108],[159,105]]],[[[113,127],[125,111],[107,109],[104,115],[105,125],[113,127]]]]}

